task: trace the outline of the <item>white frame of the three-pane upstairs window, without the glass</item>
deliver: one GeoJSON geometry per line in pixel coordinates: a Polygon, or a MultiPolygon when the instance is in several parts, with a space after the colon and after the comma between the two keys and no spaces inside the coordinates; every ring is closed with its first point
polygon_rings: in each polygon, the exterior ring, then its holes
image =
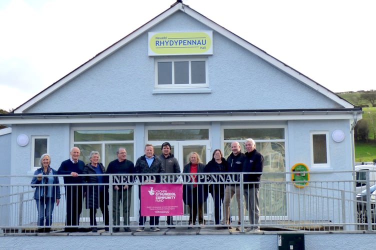
{"type": "Polygon", "coordinates": [[[157,89],[168,88],[207,88],[208,84],[208,57],[156,57],[154,58],[154,87],[157,89]],[[189,83],[188,84],[174,84],[174,63],[176,61],[189,62],[189,83]],[[191,83],[191,61],[205,61],[205,83],[191,83]],[[158,62],[172,63],[172,84],[158,84],[158,62]]]}

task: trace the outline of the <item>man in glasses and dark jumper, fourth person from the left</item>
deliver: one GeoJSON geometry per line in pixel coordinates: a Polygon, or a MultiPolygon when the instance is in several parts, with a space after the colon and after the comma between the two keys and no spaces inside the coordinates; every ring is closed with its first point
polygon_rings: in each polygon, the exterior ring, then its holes
{"type": "MultiPolygon", "coordinates": [[[[116,151],[117,159],[109,162],[106,173],[134,173],[135,168],[132,161],[126,159],[126,149],[119,147],[116,151]]],[[[119,178],[122,179],[122,178],[119,178]]],[[[132,182],[133,176],[128,176],[128,183],[132,182]]],[[[122,217],[123,225],[129,225],[130,201],[132,194],[132,185],[115,184],[112,186],[112,220],[114,225],[120,225],[120,201],[122,201],[122,217]]],[[[119,231],[119,227],[113,228],[114,232],[119,231]]],[[[124,231],[130,232],[128,226],[124,227],[124,231]]]]}

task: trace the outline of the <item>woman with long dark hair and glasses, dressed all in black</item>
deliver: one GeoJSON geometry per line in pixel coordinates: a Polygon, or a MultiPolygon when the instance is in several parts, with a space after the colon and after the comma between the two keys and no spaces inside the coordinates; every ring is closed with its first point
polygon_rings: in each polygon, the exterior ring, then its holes
{"type": "MultiPolygon", "coordinates": [[[[227,171],[227,161],[223,158],[223,153],[220,149],[215,149],[213,152],[212,159],[207,162],[204,172],[226,172],[227,171]]],[[[216,175],[216,180],[213,178],[208,178],[212,181],[219,182],[219,174],[216,175]]],[[[224,197],[224,184],[210,184],[209,193],[213,198],[214,202],[214,218],[215,224],[220,224],[220,204],[222,203],[224,197]]],[[[215,227],[216,229],[224,229],[225,227],[215,227]]]]}

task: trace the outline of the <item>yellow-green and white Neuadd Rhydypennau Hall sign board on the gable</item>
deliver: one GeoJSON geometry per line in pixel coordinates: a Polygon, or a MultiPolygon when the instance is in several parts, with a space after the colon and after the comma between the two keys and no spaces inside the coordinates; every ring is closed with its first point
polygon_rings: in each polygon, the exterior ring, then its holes
{"type": "Polygon", "coordinates": [[[212,31],[149,32],[149,55],[212,54],[212,31]]]}

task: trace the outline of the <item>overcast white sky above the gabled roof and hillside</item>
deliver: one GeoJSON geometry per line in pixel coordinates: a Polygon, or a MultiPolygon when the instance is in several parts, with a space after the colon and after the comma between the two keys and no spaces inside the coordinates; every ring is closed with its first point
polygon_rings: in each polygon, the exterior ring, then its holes
{"type": "MultiPolygon", "coordinates": [[[[175,0],[0,0],[0,108],[16,108],[175,0]]],[[[376,89],[375,0],[183,0],[333,92],[376,89]]]]}

